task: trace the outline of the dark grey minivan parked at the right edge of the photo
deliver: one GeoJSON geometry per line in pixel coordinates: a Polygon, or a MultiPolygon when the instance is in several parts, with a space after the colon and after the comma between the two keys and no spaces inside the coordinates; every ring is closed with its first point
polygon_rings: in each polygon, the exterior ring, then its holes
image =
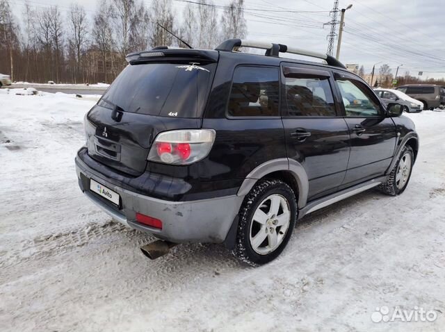
{"type": "Polygon", "coordinates": [[[434,84],[408,84],[397,90],[423,103],[423,109],[428,110],[445,105],[445,88],[434,84]]]}

